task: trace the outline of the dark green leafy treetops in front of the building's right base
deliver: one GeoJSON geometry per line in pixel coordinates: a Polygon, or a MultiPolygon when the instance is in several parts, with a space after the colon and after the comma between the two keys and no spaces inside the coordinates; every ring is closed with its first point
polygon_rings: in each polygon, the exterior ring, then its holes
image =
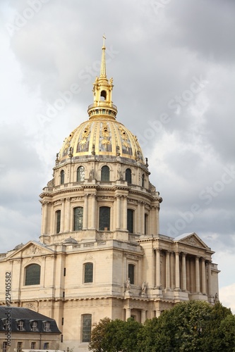
{"type": "Polygon", "coordinates": [[[104,318],[93,325],[89,349],[95,352],[235,352],[235,316],[205,301],[177,303],[144,324],[104,318]]]}

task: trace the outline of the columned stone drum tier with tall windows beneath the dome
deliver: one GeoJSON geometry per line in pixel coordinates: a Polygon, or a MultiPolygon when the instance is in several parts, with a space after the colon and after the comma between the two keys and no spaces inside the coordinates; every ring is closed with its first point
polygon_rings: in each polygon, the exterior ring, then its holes
{"type": "Polygon", "coordinates": [[[67,197],[58,201],[42,202],[42,234],[55,233],[56,210],[61,210],[60,233],[73,232],[73,208],[83,207],[83,230],[95,230],[99,228],[98,206],[109,206],[110,230],[127,231],[127,209],[134,211],[133,232],[135,234],[156,234],[158,229],[159,208],[148,207],[144,201],[133,201],[127,195],[99,196],[96,192],[85,193],[83,196],[67,197]]]}

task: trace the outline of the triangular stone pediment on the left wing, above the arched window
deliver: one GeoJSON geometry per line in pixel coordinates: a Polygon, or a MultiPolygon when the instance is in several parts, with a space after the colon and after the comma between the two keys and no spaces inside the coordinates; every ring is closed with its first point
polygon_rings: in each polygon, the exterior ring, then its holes
{"type": "Polygon", "coordinates": [[[36,241],[28,241],[27,244],[20,247],[16,251],[8,256],[8,259],[11,258],[19,258],[19,257],[32,257],[32,256],[41,256],[41,255],[52,255],[54,251],[52,249],[47,248],[44,244],[40,244],[36,241]]]}

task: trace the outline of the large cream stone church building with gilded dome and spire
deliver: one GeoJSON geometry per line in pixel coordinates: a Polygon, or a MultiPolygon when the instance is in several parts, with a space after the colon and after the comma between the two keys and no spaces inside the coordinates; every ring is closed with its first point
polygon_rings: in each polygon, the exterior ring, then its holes
{"type": "MultiPolygon", "coordinates": [[[[65,351],[88,351],[102,318],[145,322],[180,301],[218,298],[214,252],[195,233],[159,234],[162,198],[138,138],[116,120],[113,87],[103,44],[88,118],[65,139],[40,194],[40,240],[0,255],[11,305],[56,320],[65,351]]],[[[35,348],[39,339],[47,334],[35,348]]]]}

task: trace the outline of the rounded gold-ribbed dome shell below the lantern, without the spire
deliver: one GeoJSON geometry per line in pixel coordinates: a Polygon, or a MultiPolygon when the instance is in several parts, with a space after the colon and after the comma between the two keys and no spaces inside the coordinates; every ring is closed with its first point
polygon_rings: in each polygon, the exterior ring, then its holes
{"type": "Polygon", "coordinates": [[[64,141],[59,161],[94,155],[104,156],[107,161],[120,156],[144,163],[137,138],[120,122],[105,116],[90,118],[71,132],[64,141]]]}

